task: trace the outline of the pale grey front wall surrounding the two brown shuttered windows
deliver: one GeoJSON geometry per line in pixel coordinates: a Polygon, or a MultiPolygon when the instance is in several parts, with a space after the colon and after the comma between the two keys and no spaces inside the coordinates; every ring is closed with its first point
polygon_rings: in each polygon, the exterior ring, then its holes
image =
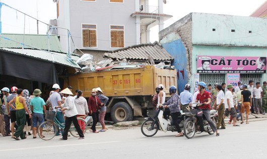
{"type": "MultiPolygon", "coordinates": [[[[64,5],[66,6],[66,5],[64,5]]],[[[59,1],[58,26],[68,26],[61,23],[62,17],[70,13],[70,30],[76,47],[82,47],[82,24],[97,25],[97,47],[83,48],[94,50],[112,50],[110,47],[110,25],[124,25],[124,46],[134,45],[136,43],[136,18],[130,17],[135,12],[135,1],[124,1],[120,3],[109,3],[109,1],[59,1]],[[68,8],[62,9],[62,4],[69,3],[68,8]]],[[[64,18],[66,20],[66,18],[64,18]]],[[[68,19],[66,20],[68,23],[68,19]]],[[[60,36],[62,46],[66,46],[66,34],[60,36]]],[[[72,51],[74,46],[72,45],[72,51]]]]}

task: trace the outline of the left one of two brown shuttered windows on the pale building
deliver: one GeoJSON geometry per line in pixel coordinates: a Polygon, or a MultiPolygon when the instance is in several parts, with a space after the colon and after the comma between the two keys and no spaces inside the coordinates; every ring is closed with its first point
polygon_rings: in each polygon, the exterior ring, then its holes
{"type": "Polygon", "coordinates": [[[83,47],[97,47],[96,25],[83,24],[83,47]]]}

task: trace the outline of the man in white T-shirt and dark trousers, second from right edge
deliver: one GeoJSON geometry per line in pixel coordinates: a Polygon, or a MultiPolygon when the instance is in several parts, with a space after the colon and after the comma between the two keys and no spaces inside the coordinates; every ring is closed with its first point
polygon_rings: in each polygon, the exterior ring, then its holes
{"type": "Polygon", "coordinates": [[[263,113],[262,111],[262,103],[261,103],[261,98],[262,98],[262,89],[260,87],[260,83],[256,82],[256,87],[253,88],[253,97],[254,97],[254,111],[256,114],[258,112],[260,114],[263,113]]]}

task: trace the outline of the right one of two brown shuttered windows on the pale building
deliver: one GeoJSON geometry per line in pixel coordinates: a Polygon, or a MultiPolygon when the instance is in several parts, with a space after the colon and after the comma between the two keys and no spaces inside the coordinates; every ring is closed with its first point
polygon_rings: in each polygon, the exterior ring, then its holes
{"type": "Polygon", "coordinates": [[[111,47],[124,47],[124,26],[110,26],[111,47]]]}

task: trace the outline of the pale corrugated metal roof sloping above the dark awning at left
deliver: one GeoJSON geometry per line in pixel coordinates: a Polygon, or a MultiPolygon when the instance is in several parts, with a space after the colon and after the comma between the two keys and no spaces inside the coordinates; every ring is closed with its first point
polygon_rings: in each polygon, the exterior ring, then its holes
{"type": "Polygon", "coordinates": [[[36,50],[36,49],[21,49],[21,48],[0,48],[0,51],[9,51],[12,54],[18,54],[22,56],[27,56],[30,58],[36,58],[43,61],[49,61],[52,63],[65,65],[77,69],[81,69],[76,61],[80,58],[77,55],[72,55],[72,60],[68,60],[65,53],[59,52],[48,52],[45,50],[36,50]]]}

